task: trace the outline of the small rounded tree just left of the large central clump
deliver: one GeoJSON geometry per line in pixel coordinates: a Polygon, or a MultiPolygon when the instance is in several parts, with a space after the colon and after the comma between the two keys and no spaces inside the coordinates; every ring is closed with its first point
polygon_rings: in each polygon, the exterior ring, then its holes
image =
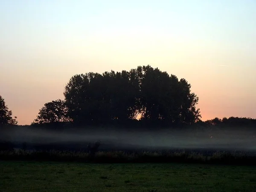
{"type": "Polygon", "coordinates": [[[65,101],[57,99],[44,104],[44,107],[40,109],[37,118],[32,124],[68,122],[69,120],[65,101]]]}

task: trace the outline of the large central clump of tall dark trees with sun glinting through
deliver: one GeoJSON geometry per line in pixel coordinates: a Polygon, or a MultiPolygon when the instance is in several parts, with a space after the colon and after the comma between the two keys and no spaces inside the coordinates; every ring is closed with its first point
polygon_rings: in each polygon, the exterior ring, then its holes
{"type": "Polygon", "coordinates": [[[67,113],[79,124],[135,119],[192,124],[200,118],[198,97],[185,79],[151,66],[73,76],[64,90],[67,113]]]}

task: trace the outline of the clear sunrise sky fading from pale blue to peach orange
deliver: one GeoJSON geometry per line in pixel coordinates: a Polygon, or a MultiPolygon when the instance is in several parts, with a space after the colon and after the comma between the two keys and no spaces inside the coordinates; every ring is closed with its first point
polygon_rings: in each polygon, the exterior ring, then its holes
{"type": "Polygon", "coordinates": [[[20,125],[76,74],[151,65],[202,120],[256,118],[255,0],[0,0],[0,95],[20,125]]]}

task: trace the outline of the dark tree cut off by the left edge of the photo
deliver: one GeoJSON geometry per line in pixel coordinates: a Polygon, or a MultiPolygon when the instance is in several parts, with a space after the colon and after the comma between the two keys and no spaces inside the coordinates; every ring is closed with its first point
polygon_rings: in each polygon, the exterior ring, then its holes
{"type": "Polygon", "coordinates": [[[0,96],[0,124],[17,125],[17,117],[12,118],[12,111],[7,107],[4,99],[0,96]]]}

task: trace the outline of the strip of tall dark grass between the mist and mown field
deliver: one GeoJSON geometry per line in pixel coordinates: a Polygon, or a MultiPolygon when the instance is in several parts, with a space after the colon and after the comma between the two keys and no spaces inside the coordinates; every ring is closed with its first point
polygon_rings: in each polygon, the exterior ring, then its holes
{"type": "Polygon", "coordinates": [[[32,161],[59,161],[84,163],[209,163],[209,164],[239,164],[256,165],[256,156],[246,153],[215,152],[211,155],[196,152],[176,151],[98,151],[94,156],[79,151],[0,151],[0,160],[32,160],[32,161]]]}

